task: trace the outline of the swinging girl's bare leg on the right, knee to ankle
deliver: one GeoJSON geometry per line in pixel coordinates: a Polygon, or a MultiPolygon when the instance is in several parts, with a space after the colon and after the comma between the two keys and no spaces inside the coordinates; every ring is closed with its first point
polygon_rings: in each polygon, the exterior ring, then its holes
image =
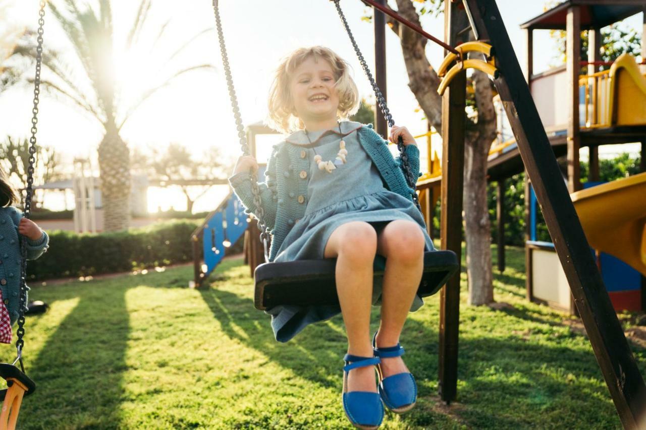
{"type": "MultiPolygon", "coordinates": [[[[377,238],[377,253],[386,257],[377,347],[399,342],[424,268],[424,234],[417,223],[391,221],[377,238]]],[[[382,358],[385,376],[408,372],[401,357],[382,358]]]]}

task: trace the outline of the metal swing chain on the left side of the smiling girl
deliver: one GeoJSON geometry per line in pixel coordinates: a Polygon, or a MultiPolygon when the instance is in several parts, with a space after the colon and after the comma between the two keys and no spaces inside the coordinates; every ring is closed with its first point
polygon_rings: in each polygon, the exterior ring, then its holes
{"type": "MultiPolygon", "coordinates": [[[[251,155],[249,145],[247,145],[247,136],[244,132],[242,119],[240,118],[240,108],[238,108],[238,97],[236,97],[236,90],[233,87],[233,77],[231,76],[231,68],[229,67],[229,57],[227,56],[227,47],[224,43],[224,32],[222,32],[222,22],[220,21],[220,10],[218,7],[218,0],[213,0],[213,12],[215,14],[215,24],[218,30],[218,39],[220,39],[220,54],[222,54],[222,65],[224,65],[224,74],[227,77],[227,87],[229,88],[229,97],[231,98],[231,107],[233,108],[233,116],[236,120],[236,129],[238,130],[238,138],[240,138],[240,147],[245,156],[251,155]]],[[[260,241],[264,247],[265,261],[269,261],[269,251],[267,249],[267,241],[269,241],[269,231],[265,223],[265,210],[262,207],[262,199],[260,198],[260,189],[258,188],[258,177],[256,172],[251,172],[251,194],[253,194],[253,204],[256,205],[256,217],[258,218],[258,230],[260,230],[260,241]]]]}

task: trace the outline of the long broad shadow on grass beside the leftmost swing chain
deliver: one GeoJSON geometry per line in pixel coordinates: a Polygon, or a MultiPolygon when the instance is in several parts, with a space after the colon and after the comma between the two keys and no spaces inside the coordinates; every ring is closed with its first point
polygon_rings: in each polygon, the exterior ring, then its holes
{"type": "Polygon", "coordinates": [[[118,287],[59,288],[57,299],[78,298],[78,304],[27,369],[37,389],[21,407],[22,428],[119,427],[129,335],[125,294],[136,285],[124,279],[118,287]]]}

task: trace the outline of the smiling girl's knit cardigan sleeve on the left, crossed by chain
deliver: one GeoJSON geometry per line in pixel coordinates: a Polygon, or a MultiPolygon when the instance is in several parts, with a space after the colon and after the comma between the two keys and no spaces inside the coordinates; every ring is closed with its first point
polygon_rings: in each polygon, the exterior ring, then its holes
{"type": "MultiPolygon", "coordinates": [[[[267,169],[265,170],[265,181],[258,183],[258,190],[260,190],[260,201],[262,209],[264,209],[264,221],[267,229],[270,231],[274,229],[276,224],[276,209],[278,208],[278,197],[276,194],[276,148],[273,150],[269,161],[267,161],[267,169]]],[[[236,196],[242,201],[242,204],[247,208],[247,214],[253,214],[258,218],[258,208],[253,198],[251,191],[251,176],[249,172],[240,172],[234,174],[229,178],[229,183],[236,193],[236,196]]]]}

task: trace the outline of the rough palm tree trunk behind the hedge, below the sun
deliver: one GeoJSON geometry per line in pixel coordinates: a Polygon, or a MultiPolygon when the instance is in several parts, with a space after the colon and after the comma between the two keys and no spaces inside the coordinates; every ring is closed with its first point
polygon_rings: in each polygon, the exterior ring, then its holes
{"type": "Polygon", "coordinates": [[[130,225],[130,152],[116,128],[109,127],[99,144],[99,174],[103,230],[128,229],[130,225]]]}

